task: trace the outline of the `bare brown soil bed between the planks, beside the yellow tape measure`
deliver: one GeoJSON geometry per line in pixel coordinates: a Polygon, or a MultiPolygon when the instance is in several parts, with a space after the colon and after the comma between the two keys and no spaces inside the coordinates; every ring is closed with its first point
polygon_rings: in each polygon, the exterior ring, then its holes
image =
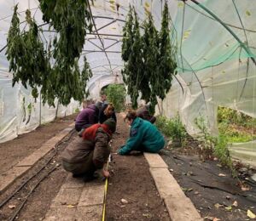
{"type": "MultiPolygon", "coordinates": [[[[125,144],[129,127],[119,116],[117,132],[113,136],[113,152],[125,144]]],[[[154,185],[143,155],[119,156],[113,154],[107,195],[107,220],[170,220],[164,202],[154,185]],[[127,204],[121,202],[128,201],[127,204]]]]}

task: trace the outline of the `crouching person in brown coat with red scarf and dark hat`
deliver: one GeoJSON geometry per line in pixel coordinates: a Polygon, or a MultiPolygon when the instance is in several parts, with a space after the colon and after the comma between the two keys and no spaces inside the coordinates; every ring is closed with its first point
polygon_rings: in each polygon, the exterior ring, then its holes
{"type": "Polygon", "coordinates": [[[116,128],[116,123],[109,118],[102,124],[94,124],[84,130],[82,137],[76,137],[62,151],[62,165],[73,177],[82,177],[84,181],[94,178],[97,169],[102,169],[102,175],[108,178],[108,162],[110,147],[108,142],[116,128]]]}

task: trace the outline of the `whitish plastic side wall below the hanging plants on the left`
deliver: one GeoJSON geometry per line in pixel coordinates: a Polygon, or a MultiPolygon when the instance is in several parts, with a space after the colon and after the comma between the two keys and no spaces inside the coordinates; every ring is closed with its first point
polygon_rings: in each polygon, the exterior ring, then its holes
{"type": "Polygon", "coordinates": [[[77,101],[63,106],[55,100],[55,108],[43,105],[40,99],[32,98],[30,89],[20,85],[12,88],[11,79],[0,79],[0,143],[28,133],[55,117],[71,115],[78,108],[77,101]]]}

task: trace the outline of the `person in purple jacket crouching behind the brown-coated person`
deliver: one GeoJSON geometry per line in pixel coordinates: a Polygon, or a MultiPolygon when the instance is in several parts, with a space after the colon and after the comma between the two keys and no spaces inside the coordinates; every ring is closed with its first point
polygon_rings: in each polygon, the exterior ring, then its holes
{"type": "Polygon", "coordinates": [[[100,102],[96,104],[88,105],[83,111],[79,113],[75,122],[76,131],[81,131],[84,128],[90,127],[99,121],[99,105],[100,102]]]}

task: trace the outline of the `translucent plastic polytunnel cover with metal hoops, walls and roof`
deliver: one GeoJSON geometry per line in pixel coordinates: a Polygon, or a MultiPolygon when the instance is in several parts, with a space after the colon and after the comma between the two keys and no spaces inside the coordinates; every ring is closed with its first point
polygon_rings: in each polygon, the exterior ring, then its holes
{"type": "MultiPolygon", "coordinates": [[[[23,21],[29,8],[41,28],[40,36],[45,47],[55,36],[55,30],[42,20],[38,1],[0,2],[1,142],[31,131],[55,116],[69,115],[80,106],[75,100],[67,106],[57,105],[56,99],[55,107],[42,105],[40,96],[33,99],[29,88],[20,83],[12,87],[6,50],[9,26],[17,3],[21,28],[26,28],[23,21]]],[[[135,8],[140,22],[145,20],[145,10],[150,11],[154,26],[160,30],[164,3],[160,0],[90,2],[93,27],[86,33],[82,50],[93,73],[87,85],[90,98],[98,99],[101,88],[110,83],[123,82],[122,31],[129,5],[135,8]]],[[[159,99],[155,111],[168,117],[178,112],[191,135],[198,133],[195,126],[198,116],[205,118],[212,134],[218,133],[218,106],[255,117],[256,4],[250,0],[169,0],[166,3],[177,45],[177,75],[166,99],[159,99]]],[[[79,59],[79,65],[82,65],[82,59],[79,59]]],[[[254,145],[252,142],[250,148],[253,149],[254,145]]]]}

